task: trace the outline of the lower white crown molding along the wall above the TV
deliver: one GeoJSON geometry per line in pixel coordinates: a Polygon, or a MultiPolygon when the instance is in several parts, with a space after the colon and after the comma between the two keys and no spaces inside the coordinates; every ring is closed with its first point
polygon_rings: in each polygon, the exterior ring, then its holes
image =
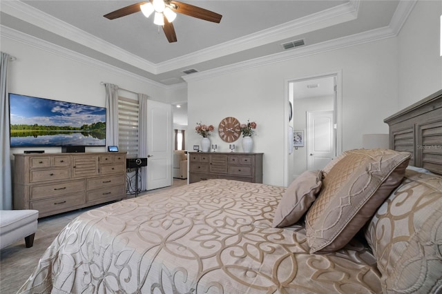
{"type": "MultiPolygon", "coordinates": [[[[51,54],[58,55],[60,57],[64,57],[66,59],[70,59],[70,60],[73,60],[73,61],[76,61],[79,63],[83,63],[83,64],[86,64],[87,66],[91,66],[93,68],[98,68],[99,70],[114,72],[117,75],[126,75],[128,77],[131,77],[132,79],[136,79],[137,81],[149,84],[153,87],[162,88],[165,90],[170,90],[173,88],[182,87],[182,84],[185,85],[185,83],[180,83],[177,85],[166,86],[164,84],[158,83],[157,81],[152,81],[151,79],[147,79],[147,78],[142,77],[140,75],[135,75],[133,72],[123,70],[122,68],[118,68],[116,66],[111,66],[108,63],[99,61],[97,59],[93,59],[93,58],[88,57],[86,55],[81,55],[80,53],[75,52],[73,50],[69,50],[69,49],[64,48],[62,46],[55,45],[53,43],[50,43],[48,41],[44,41],[44,40],[39,39],[37,37],[33,37],[31,35],[25,34],[25,33],[20,32],[18,30],[14,30],[14,29],[9,28],[7,26],[0,25],[0,37],[10,39],[10,40],[16,41],[18,43],[23,43],[27,46],[31,46],[33,48],[37,48],[39,50],[43,50],[45,52],[49,52],[51,54]]],[[[20,59],[19,56],[15,56],[15,57],[17,59],[20,59]]]]}

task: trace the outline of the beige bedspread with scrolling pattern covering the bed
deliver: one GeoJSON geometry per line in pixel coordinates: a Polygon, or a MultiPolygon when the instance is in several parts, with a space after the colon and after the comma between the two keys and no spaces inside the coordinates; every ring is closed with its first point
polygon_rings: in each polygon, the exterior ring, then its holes
{"type": "Polygon", "coordinates": [[[284,191],[211,179],[89,210],[19,293],[381,293],[358,242],[310,255],[303,226],[271,228],[284,191]]]}

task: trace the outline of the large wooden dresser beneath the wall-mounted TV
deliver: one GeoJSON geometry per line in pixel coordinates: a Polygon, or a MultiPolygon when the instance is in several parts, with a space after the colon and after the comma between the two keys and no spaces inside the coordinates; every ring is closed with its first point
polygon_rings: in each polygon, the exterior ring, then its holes
{"type": "Polygon", "coordinates": [[[46,217],[126,198],[126,153],[14,156],[14,209],[46,217]]]}

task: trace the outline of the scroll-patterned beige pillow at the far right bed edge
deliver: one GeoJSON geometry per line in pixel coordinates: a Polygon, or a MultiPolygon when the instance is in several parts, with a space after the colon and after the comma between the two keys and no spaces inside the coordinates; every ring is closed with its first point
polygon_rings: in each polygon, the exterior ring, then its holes
{"type": "Polygon", "coordinates": [[[365,237],[382,274],[383,293],[441,293],[442,177],[407,170],[365,237]]]}

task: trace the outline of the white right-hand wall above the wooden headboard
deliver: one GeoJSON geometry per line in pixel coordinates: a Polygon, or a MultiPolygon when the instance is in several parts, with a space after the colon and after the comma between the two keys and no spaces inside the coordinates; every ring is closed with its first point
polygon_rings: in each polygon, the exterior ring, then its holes
{"type": "Polygon", "coordinates": [[[398,35],[398,110],[442,89],[442,1],[417,1],[398,35]]]}

